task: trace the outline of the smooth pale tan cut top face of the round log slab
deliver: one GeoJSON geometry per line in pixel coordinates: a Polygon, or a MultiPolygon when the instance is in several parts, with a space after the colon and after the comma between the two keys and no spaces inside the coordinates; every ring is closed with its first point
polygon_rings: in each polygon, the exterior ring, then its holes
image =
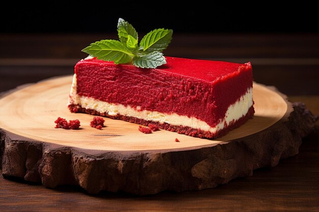
{"type": "Polygon", "coordinates": [[[222,138],[201,139],[166,130],[143,134],[138,130],[139,125],[111,118],[104,118],[106,127],[96,130],[90,127],[94,116],[71,113],[67,108],[71,84],[72,76],[59,77],[26,86],[3,97],[0,99],[0,128],[35,140],[85,149],[139,152],[164,149],[166,152],[212,146],[249,136],[271,127],[292,111],[291,104],[284,97],[254,83],[254,117],[222,138]],[[59,116],[67,120],[79,119],[81,129],[55,129],[54,121],[59,116]],[[180,142],[175,142],[175,138],[180,142]]]}

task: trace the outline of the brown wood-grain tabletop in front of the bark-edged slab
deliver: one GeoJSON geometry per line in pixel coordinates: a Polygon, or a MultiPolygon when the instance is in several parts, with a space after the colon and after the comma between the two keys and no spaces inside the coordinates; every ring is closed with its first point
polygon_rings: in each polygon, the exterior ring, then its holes
{"type": "MultiPolygon", "coordinates": [[[[319,97],[304,100],[310,108],[319,97]]],[[[319,110],[313,110],[319,114],[319,110]]],[[[278,166],[262,168],[226,185],[196,192],[134,196],[102,192],[88,195],[78,187],[47,189],[0,175],[1,211],[311,211],[319,207],[319,125],[303,139],[300,152],[278,166]]]]}

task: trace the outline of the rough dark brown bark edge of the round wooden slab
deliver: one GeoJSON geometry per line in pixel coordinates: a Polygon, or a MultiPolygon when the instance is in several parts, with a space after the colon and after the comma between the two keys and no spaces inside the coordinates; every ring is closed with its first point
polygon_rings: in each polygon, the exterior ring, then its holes
{"type": "Polygon", "coordinates": [[[4,176],[58,185],[79,185],[89,193],[105,190],[146,195],[200,190],[225,184],[253,170],[276,166],[298,154],[302,137],[317,116],[294,103],[286,120],[251,136],[211,147],[169,152],[105,152],[40,142],[0,129],[4,176]]]}

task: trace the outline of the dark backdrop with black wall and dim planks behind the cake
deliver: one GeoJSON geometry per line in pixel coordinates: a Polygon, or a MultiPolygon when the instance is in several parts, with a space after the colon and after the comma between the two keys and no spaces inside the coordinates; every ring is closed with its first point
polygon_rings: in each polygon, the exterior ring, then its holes
{"type": "Polygon", "coordinates": [[[118,39],[121,17],[140,39],[154,28],[173,29],[166,56],[251,62],[259,83],[287,95],[319,94],[317,7],[306,1],[207,2],[6,1],[0,6],[0,92],[71,75],[87,56],[81,49],[118,39]]]}

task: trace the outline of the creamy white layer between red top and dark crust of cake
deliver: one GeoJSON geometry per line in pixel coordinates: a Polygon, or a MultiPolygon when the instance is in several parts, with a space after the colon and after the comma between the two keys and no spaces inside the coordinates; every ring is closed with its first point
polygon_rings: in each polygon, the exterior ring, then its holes
{"type": "Polygon", "coordinates": [[[222,130],[225,126],[231,122],[240,119],[243,115],[246,115],[249,108],[253,105],[253,93],[252,88],[248,88],[245,95],[243,95],[238,101],[230,105],[227,109],[225,117],[219,120],[219,124],[215,127],[209,126],[206,122],[195,117],[188,117],[187,115],[178,115],[176,113],[161,113],[149,110],[138,110],[124,106],[122,104],[108,103],[100,100],[96,100],[90,97],[83,97],[76,94],[76,75],[73,76],[73,82],[71,86],[69,103],[78,104],[86,109],[96,110],[97,112],[108,112],[109,115],[125,115],[132,116],[140,119],[151,120],[153,122],[159,122],[161,124],[167,123],[176,126],[186,126],[194,129],[201,129],[203,131],[209,131],[216,133],[222,130]]]}

